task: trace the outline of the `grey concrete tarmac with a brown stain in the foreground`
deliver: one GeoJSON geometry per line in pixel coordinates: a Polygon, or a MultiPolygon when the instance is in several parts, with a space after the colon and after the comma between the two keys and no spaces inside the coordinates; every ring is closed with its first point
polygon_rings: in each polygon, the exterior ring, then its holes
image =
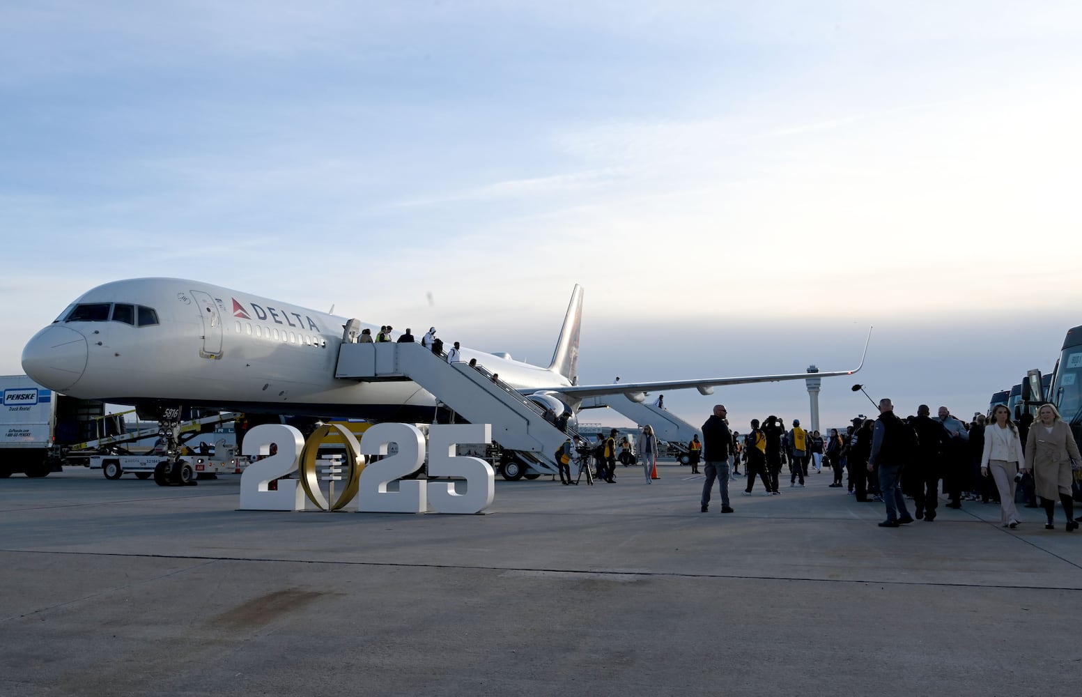
{"type": "MultiPolygon", "coordinates": [[[[240,512],[239,477],[0,479],[0,695],[1058,695],[1082,531],[875,524],[830,475],[497,481],[487,515],[240,512]]],[[[912,502],[909,502],[912,505],[912,502]]],[[[1080,507],[1082,508],[1082,507],[1080,507]]]]}

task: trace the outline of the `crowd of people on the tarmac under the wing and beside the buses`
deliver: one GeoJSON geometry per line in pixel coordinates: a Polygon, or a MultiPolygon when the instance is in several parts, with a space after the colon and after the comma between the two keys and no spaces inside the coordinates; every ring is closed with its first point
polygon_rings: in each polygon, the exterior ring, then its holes
{"type": "Polygon", "coordinates": [[[715,406],[702,425],[701,447],[698,436],[688,444],[692,472],[698,472],[700,456],[705,462],[700,510],[709,510],[716,481],[722,513],[733,512],[728,483],[741,476],[741,462],[744,496],[753,495],[756,481],[763,484],[763,496],[780,495],[782,466],[788,464],[791,488],[804,487],[809,472],[827,468],[832,474],[829,487],[845,488],[860,502],[882,502],[882,527],[935,521],[941,487],[948,508],[977,501],[999,504],[1003,527],[1015,528],[1021,523],[1015,507],[1020,487],[1025,508],[1043,509],[1047,529],[1055,528],[1056,501],[1067,518],[1064,529],[1078,529],[1082,516],[1073,517],[1071,466],[1072,461],[1076,466],[1082,463],[1082,456],[1053,405],[1041,406],[1035,422],[1027,413],[1017,423],[1005,406],[995,407],[987,422],[982,415],[964,422],[947,407],[932,417],[927,405],[902,419],[894,413],[890,399],[878,406],[878,419],[859,417],[844,432],[831,429],[826,436],[804,430],[799,419],[787,431],[771,415],[762,423],[752,419],[751,431],[742,437],[729,431],[725,407],[715,406]],[[912,501],[912,515],[907,500],[912,501]]]}

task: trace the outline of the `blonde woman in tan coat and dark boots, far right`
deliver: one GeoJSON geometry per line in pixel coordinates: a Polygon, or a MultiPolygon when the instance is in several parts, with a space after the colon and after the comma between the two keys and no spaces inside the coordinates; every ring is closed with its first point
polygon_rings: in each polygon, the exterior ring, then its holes
{"type": "Polygon", "coordinates": [[[1041,497],[1044,512],[1048,516],[1045,529],[1055,529],[1052,523],[1056,510],[1056,497],[1064,504],[1067,514],[1067,531],[1078,528],[1074,503],[1071,500],[1071,458],[1082,463],[1082,455],[1071,435],[1071,429],[1064,423],[1059,412],[1051,404],[1037,412],[1037,422],[1029,428],[1026,438],[1026,472],[1033,473],[1037,495],[1041,497]]]}

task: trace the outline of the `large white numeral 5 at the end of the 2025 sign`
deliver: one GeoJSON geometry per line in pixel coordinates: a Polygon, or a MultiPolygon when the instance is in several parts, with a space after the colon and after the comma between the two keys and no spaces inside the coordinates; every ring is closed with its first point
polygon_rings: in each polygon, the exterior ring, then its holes
{"type": "Polygon", "coordinates": [[[492,425],[463,423],[428,428],[428,476],[462,477],[465,494],[456,490],[456,482],[430,482],[428,502],[440,513],[480,513],[496,496],[496,472],[480,458],[456,457],[459,443],[490,443],[492,425]]]}

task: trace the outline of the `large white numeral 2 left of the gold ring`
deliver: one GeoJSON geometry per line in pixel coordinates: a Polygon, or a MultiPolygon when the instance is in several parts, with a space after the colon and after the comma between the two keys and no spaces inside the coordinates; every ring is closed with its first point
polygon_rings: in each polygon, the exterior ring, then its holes
{"type": "Polygon", "coordinates": [[[241,452],[248,456],[270,457],[251,463],[240,475],[241,511],[303,511],[304,490],[296,479],[279,479],[278,490],[269,490],[270,479],[296,471],[296,458],[304,449],[304,436],[293,426],[283,423],[264,423],[245,435],[241,452]],[[270,446],[278,451],[270,455],[270,446]]]}

